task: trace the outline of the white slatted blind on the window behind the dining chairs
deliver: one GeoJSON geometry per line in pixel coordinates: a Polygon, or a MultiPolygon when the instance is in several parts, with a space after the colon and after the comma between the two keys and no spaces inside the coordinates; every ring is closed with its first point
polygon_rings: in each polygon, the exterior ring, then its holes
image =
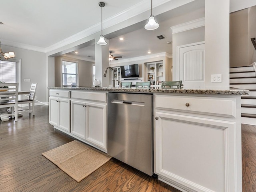
{"type": "Polygon", "coordinates": [[[16,62],[0,61],[0,81],[16,83],[16,62]]]}

